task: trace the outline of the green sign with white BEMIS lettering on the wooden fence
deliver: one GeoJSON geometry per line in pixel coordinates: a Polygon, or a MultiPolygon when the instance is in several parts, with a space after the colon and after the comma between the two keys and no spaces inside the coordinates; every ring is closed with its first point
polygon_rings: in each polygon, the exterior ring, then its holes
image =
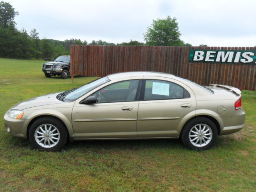
{"type": "Polygon", "coordinates": [[[250,50],[194,50],[189,51],[189,62],[256,64],[256,51],[250,50]]]}

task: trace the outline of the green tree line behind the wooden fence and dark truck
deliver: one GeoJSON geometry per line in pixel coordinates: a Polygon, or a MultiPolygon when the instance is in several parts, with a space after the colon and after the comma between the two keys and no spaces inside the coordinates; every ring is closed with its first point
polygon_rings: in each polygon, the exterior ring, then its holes
{"type": "MultiPolygon", "coordinates": [[[[119,45],[119,46],[192,46],[180,39],[178,22],[176,18],[167,16],[165,19],[153,20],[152,25],[147,28],[144,35],[144,42],[130,40],[114,44],[102,40],[93,40],[88,43],[86,40],[54,40],[44,37],[39,38],[35,28],[30,32],[26,29],[18,30],[14,18],[18,12],[8,2],[0,2],[0,57],[5,58],[57,58],[60,55],[70,54],[70,45],[119,45]]],[[[205,45],[204,45],[205,46],[205,45]]]]}

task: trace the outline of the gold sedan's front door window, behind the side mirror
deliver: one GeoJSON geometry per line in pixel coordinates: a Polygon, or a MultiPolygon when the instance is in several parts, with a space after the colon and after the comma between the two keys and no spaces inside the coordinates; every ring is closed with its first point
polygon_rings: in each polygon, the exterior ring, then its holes
{"type": "Polygon", "coordinates": [[[138,90],[139,80],[117,82],[102,88],[94,95],[98,103],[134,101],[138,90]]]}

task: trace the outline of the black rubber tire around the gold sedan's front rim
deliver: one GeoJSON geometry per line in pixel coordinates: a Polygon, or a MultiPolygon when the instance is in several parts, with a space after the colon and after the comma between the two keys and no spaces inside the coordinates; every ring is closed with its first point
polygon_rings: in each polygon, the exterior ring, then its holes
{"type": "MultiPolygon", "coordinates": [[[[44,126],[42,126],[41,128],[44,128],[44,126]]],[[[51,128],[49,127],[48,129],[50,130],[51,128]]],[[[43,118],[36,120],[31,125],[28,135],[29,135],[29,140],[30,140],[32,148],[35,148],[38,150],[43,150],[43,151],[61,150],[62,147],[65,145],[67,138],[68,138],[68,132],[67,132],[66,126],[60,120],[55,119],[55,118],[50,118],[50,117],[43,117],[43,118]],[[43,142],[38,144],[38,142],[36,141],[36,138],[35,138],[35,134],[37,134],[36,130],[44,124],[49,124],[49,126],[52,125],[52,129],[57,128],[58,132],[57,131],[53,132],[53,133],[57,132],[58,136],[56,136],[56,137],[59,138],[59,140],[55,146],[51,147],[50,145],[47,144],[48,147],[47,146],[43,147],[40,145],[40,144],[43,145],[43,142]]],[[[37,134],[37,135],[41,136],[42,134],[37,134]]],[[[49,137],[49,135],[48,135],[48,137],[49,137]]],[[[55,135],[54,135],[54,137],[55,137],[55,135]]],[[[56,141],[56,140],[54,140],[54,141],[56,141]]],[[[52,145],[54,145],[53,142],[51,142],[51,141],[49,141],[49,142],[52,143],[52,145]]]]}

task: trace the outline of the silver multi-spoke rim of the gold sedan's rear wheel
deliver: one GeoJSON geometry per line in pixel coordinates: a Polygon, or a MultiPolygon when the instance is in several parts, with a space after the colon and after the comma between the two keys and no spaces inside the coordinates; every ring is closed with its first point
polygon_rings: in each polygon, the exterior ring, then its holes
{"type": "Polygon", "coordinates": [[[212,129],[206,124],[197,124],[190,129],[189,140],[196,147],[203,147],[212,140],[212,129]]]}

